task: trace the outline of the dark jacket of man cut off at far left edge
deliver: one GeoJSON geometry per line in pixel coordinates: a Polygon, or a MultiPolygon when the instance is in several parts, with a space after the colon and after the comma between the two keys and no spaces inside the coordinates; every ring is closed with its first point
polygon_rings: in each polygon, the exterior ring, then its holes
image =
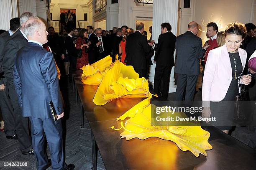
{"type": "MultiPolygon", "coordinates": [[[[0,35],[0,74],[3,76],[3,57],[5,54],[5,45],[6,42],[10,39],[10,34],[8,31],[0,35]]],[[[4,84],[6,79],[0,78],[0,84],[4,84]]]]}

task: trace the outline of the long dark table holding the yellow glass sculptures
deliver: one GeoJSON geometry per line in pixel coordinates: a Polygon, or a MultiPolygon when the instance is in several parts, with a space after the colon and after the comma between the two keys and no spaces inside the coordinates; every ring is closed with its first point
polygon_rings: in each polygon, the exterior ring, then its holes
{"type": "Polygon", "coordinates": [[[82,85],[79,77],[74,80],[82,114],[85,113],[92,130],[92,169],[97,168],[99,149],[107,170],[256,170],[256,151],[215,127],[203,127],[210,132],[209,142],[213,147],[206,151],[207,157],[195,157],[180,150],[174,142],[156,137],[120,139],[123,130],[110,127],[120,127],[116,118],[143,99],[116,99],[96,106],[93,97],[97,86],[82,85]]]}

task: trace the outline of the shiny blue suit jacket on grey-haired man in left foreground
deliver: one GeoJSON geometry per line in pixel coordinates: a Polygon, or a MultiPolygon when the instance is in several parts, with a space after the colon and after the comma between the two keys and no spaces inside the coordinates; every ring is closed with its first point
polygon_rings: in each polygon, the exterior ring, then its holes
{"type": "Polygon", "coordinates": [[[29,42],[15,58],[13,83],[24,117],[52,117],[49,101],[57,114],[63,112],[54,56],[37,43],[29,42]]]}

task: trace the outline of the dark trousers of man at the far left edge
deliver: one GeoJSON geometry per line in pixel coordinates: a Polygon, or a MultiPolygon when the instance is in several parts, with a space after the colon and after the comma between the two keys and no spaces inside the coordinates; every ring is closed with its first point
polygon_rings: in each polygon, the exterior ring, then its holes
{"type": "Polygon", "coordinates": [[[5,122],[6,136],[13,136],[15,132],[15,119],[13,113],[13,106],[10,99],[6,96],[5,90],[0,91],[0,108],[2,111],[3,120],[5,122]]]}

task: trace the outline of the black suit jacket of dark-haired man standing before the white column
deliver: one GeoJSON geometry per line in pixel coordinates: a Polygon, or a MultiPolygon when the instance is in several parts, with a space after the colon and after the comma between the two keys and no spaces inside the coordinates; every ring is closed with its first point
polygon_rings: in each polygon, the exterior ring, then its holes
{"type": "Polygon", "coordinates": [[[155,58],[156,64],[162,66],[174,66],[174,49],[176,36],[172,32],[160,34],[156,48],[155,58]]]}

